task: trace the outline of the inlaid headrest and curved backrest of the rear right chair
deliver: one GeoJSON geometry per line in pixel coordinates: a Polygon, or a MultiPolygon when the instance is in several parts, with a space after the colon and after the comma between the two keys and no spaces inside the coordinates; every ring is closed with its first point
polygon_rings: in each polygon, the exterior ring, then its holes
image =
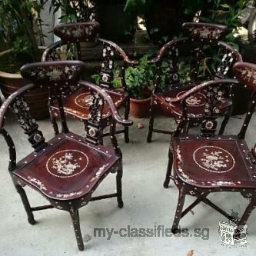
{"type": "Polygon", "coordinates": [[[185,23],[183,28],[187,37],[168,42],[158,52],[157,58],[162,59],[159,75],[165,75],[169,88],[188,81],[231,78],[231,67],[241,62],[241,55],[221,41],[228,28],[196,22],[185,23]],[[163,62],[168,65],[163,67],[163,62]]]}

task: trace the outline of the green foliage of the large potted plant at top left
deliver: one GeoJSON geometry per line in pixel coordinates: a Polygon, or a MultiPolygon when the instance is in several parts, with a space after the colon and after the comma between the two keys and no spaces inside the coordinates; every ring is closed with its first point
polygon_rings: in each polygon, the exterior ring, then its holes
{"type": "Polygon", "coordinates": [[[40,60],[36,18],[43,8],[35,0],[0,0],[0,33],[13,54],[32,62],[40,60]]]}

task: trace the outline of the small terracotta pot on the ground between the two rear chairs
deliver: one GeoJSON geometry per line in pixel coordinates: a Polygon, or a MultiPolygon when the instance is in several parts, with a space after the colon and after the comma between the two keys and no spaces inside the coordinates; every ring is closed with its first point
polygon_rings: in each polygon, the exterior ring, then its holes
{"type": "Polygon", "coordinates": [[[148,116],[151,98],[130,98],[130,114],[134,118],[145,118],[148,116]]]}

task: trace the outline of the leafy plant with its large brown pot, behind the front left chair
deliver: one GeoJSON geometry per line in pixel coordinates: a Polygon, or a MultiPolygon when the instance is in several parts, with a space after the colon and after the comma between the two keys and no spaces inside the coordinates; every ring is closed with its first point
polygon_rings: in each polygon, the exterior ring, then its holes
{"type": "MultiPolygon", "coordinates": [[[[32,0],[0,1],[0,33],[8,46],[8,50],[0,52],[0,88],[5,97],[28,84],[18,73],[19,68],[41,59],[35,21],[43,5],[32,0]]],[[[33,90],[25,95],[25,100],[35,118],[48,116],[47,89],[33,90]]]]}

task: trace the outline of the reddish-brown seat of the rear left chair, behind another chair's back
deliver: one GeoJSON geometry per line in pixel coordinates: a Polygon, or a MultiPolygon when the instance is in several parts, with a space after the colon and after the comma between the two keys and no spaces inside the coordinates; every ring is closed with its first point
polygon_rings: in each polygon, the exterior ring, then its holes
{"type": "MultiPolygon", "coordinates": [[[[112,101],[115,103],[116,108],[120,108],[125,98],[128,97],[123,90],[107,90],[105,91],[111,96],[112,101]]],[[[88,88],[79,88],[77,91],[67,95],[63,102],[65,114],[75,116],[81,120],[88,120],[89,108],[91,101],[91,92],[88,88]]],[[[51,106],[55,115],[58,115],[58,104],[51,106]]],[[[110,111],[108,105],[105,104],[102,111],[102,118],[108,118],[110,111]]]]}

